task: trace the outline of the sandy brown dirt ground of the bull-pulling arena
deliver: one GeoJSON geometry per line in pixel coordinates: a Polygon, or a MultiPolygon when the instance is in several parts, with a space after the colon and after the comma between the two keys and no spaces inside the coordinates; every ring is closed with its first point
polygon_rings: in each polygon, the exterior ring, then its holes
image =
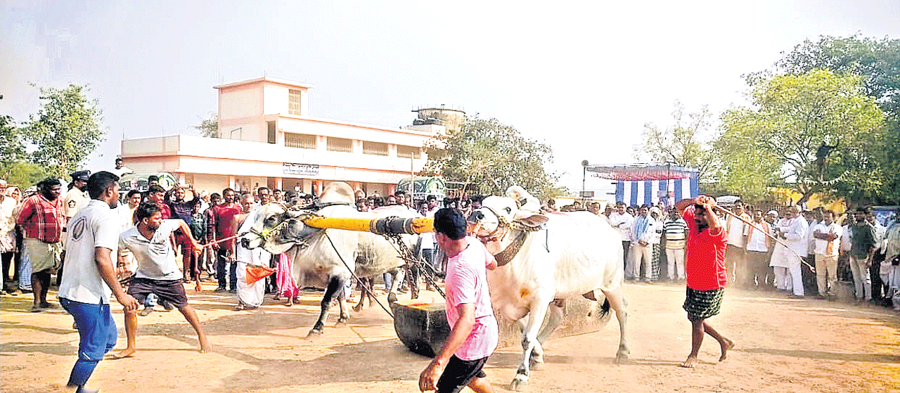
{"type": "MultiPolygon", "coordinates": [[[[101,362],[89,386],[104,392],[410,392],[429,359],[410,353],[375,305],[324,335],[306,335],[319,294],[286,308],[266,300],[232,311],[234,295],[189,289],[213,346],[198,353],[193,330],[177,312],[139,317],[140,348],[130,359],[101,362]]],[[[678,367],[689,353],[689,323],[675,284],[627,284],[631,361],[616,365],[615,319],[599,332],[552,338],[532,392],[887,392],[900,391],[900,317],[888,309],[771,292],[726,290],[722,314],[710,322],[736,346],[716,362],[707,336],[697,369],[678,367]]],[[[401,295],[401,299],[406,295],[401,295]]],[[[425,292],[424,297],[437,298],[425,292]]],[[[51,299],[56,299],[51,292],[51,299]]],[[[384,297],[382,297],[384,298],[384,297]]],[[[55,303],[55,301],[54,301],[55,303]]],[[[59,308],[27,311],[31,295],[6,295],[0,307],[0,382],[4,392],[58,391],[76,360],[78,335],[59,308]]],[[[124,346],[121,307],[114,307],[124,346]]],[[[520,349],[502,348],[486,372],[508,391],[520,349]]]]}

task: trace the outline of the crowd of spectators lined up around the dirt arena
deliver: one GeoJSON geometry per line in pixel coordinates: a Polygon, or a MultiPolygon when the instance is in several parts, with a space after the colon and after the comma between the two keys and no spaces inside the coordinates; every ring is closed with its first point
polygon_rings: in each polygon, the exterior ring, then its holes
{"type": "MultiPolygon", "coordinates": [[[[120,167],[121,163],[117,162],[115,171],[120,167]]],[[[54,307],[46,299],[51,285],[50,274],[57,272],[59,276],[59,271],[64,268],[60,255],[64,248],[64,228],[67,218],[73,217],[89,200],[85,192],[88,175],[87,171],[72,174],[72,182],[65,193],[60,191],[58,179],[49,178],[25,190],[0,180],[0,257],[3,261],[0,290],[14,295],[33,291],[33,311],[54,307]]],[[[435,195],[414,199],[405,191],[386,196],[380,192],[370,195],[357,192],[356,209],[369,211],[383,206],[405,206],[423,217],[432,217],[439,208],[446,207],[460,210],[467,217],[473,209],[481,207],[482,198],[438,201],[435,195]]],[[[316,201],[311,194],[266,187],[254,192],[231,189],[198,192],[190,186],[175,186],[166,191],[158,185],[158,179],[150,176],[147,191],[123,193],[117,212],[121,231],[133,226],[135,210],[142,202],[156,204],[165,219],[184,220],[194,238],[214,243],[214,246],[211,251],[197,253],[187,236],[180,231],[175,233],[172,241],[181,249],[183,280],[193,282],[215,277],[216,291],[235,292],[238,286],[237,245],[229,237],[237,233],[231,220],[247,213],[240,206],[240,201],[245,199],[252,201],[253,209],[270,201],[299,206],[311,206],[316,201]]],[[[557,209],[556,201],[550,199],[542,209],[587,210],[607,220],[621,237],[627,281],[685,280],[688,225],[671,203],[660,201],[656,205],[626,206],[624,202],[617,202],[603,211],[600,207],[597,201],[573,201],[557,209]]],[[[822,208],[800,210],[796,206],[783,212],[763,211],[741,201],[729,208],[734,215],[722,219],[728,237],[726,265],[732,285],[779,291],[798,299],[806,296],[835,299],[840,282],[852,282],[853,296],[859,302],[900,310],[900,224],[896,218],[886,223],[878,222],[868,208],[850,210],[842,215],[822,208]],[[766,237],[766,233],[779,241],[766,237]]],[[[421,237],[416,251],[434,272],[438,275],[443,272],[444,255],[433,237],[428,234],[421,237]]],[[[271,267],[277,269],[281,260],[280,255],[273,255],[271,267]]],[[[133,258],[127,252],[120,256],[119,268],[125,278],[134,272],[133,258]]],[[[390,280],[389,276],[384,277],[387,285],[390,280]]],[[[279,281],[282,280],[275,273],[266,279],[266,293],[274,293],[276,299],[280,293],[279,281]]],[[[288,296],[289,302],[292,299],[293,295],[288,296]]],[[[152,299],[145,306],[152,307],[152,299]]]]}

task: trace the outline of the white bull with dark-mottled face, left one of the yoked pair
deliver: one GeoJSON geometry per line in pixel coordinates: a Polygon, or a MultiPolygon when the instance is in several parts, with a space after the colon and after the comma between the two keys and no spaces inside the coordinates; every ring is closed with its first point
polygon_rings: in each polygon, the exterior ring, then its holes
{"type": "MultiPolygon", "coordinates": [[[[315,213],[329,218],[369,218],[397,216],[417,217],[413,210],[403,207],[387,207],[374,212],[362,212],[354,207],[353,191],[347,183],[329,183],[319,200],[320,209],[315,213]]],[[[293,278],[300,288],[313,287],[325,290],[321,312],[311,335],[321,334],[335,298],[338,299],[338,322],[349,319],[343,301],[344,287],[351,279],[350,270],[359,278],[375,277],[384,272],[395,275],[389,299],[396,299],[394,290],[398,284],[396,272],[404,263],[390,240],[370,232],[307,227],[300,219],[311,210],[287,209],[284,205],[269,203],[257,213],[257,220],[250,232],[241,237],[247,248],[263,247],[272,254],[287,253],[293,261],[293,278]],[[333,245],[333,246],[332,246],[333,245]],[[343,259],[343,261],[342,261],[343,259]],[[346,263],[346,264],[345,264],[346,263]],[[349,267],[349,270],[348,268],[349,267]]],[[[407,246],[414,237],[402,236],[407,246]]]]}

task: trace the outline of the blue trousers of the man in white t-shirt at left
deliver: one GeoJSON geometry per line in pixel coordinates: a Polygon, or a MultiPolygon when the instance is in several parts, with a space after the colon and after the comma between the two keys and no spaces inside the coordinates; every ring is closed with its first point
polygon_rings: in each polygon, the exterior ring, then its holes
{"type": "Polygon", "coordinates": [[[103,355],[115,347],[118,333],[112,319],[110,305],[87,304],[66,298],[59,298],[78,326],[78,360],[68,378],[69,386],[84,386],[103,355]]]}

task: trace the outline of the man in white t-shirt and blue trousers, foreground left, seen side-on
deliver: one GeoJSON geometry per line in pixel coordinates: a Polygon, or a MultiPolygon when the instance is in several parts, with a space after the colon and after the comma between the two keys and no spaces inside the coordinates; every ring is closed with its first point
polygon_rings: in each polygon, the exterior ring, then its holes
{"type": "Polygon", "coordinates": [[[83,391],[103,355],[115,347],[118,333],[110,311],[110,295],[125,312],[138,309],[138,300],[121,289],[116,279],[112,250],[119,242],[114,208],[119,199],[119,177],[98,172],[87,180],[91,201],[67,225],[67,269],[59,285],[59,304],[78,326],[78,360],[67,387],[83,391]]]}

